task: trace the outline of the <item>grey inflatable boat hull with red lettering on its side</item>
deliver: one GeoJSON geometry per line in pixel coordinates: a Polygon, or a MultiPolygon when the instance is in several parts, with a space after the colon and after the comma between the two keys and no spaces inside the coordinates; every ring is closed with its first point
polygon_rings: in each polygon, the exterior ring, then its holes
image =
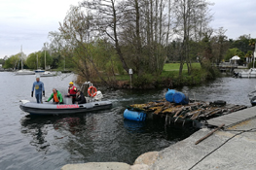
{"type": "Polygon", "coordinates": [[[80,114],[91,111],[98,111],[109,109],[112,103],[109,101],[98,101],[85,104],[53,104],[43,103],[38,104],[35,102],[25,102],[19,105],[19,108],[29,113],[30,115],[67,115],[67,114],[80,114]]]}

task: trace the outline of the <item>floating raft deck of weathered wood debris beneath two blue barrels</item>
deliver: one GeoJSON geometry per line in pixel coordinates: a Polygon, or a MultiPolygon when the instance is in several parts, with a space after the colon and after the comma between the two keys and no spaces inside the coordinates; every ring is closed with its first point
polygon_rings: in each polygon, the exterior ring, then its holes
{"type": "Polygon", "coordinates": [[[132,104],[128,106],[128,110],[143,112],[147,114],[147,118],[152,118],[152,116],[164,117],[165,121],[168,123],[177,120],[183,120],[184,122],[185,120],[205,121],[246,108],[247,106],[227,104],[222,100],[214,102],[190,100],[186,105],[179,105],[168,102],[165,99],[148,102],[146,104],[132,104]]]}

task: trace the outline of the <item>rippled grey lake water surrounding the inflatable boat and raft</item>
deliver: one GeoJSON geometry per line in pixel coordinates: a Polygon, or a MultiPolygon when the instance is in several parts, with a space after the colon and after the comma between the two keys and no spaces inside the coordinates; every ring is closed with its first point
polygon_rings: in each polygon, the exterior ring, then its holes
{"type": "MultiPolygon", "coordinates": [[[[19,109],[19,100],[30,97],[35,76],[0,73],[0,169],[60,169],[67,163],[119,161],[132,164],[141,153],[161,151],[180,141],[195,129],[171,126],[161,120],[134,122],[123,113],[132,103],[145,103],[165,97],[166,89],[129,90],[98,88],[113,108],[88,114],[62,117],[31,117],[19,109]],[[161,121],[162,122],[162,121],[161,121]]],[[[62,94],[72,74],[41,78],[49,97],[55,87],[62,94]]],[[[247,93],[256,79],[222,78],[207,85],[177,88],[200,100],[226,100],[250,105],[247,93]]]]}

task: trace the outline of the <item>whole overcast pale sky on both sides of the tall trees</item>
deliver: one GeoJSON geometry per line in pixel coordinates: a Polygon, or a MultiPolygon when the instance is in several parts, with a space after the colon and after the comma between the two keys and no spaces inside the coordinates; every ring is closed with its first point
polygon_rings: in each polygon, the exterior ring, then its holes
{"type": "MultiPolygon", "coordinates": [[[[48,33],[56,31],[70,5],[80,0],[0,0],[0,58],[22,51],[41,51],[50,42],[48,33]]],[[[256,38],[256,0],[209,0],[215,29],[227,29],[228,38],[250,34],[256,38]]]]}

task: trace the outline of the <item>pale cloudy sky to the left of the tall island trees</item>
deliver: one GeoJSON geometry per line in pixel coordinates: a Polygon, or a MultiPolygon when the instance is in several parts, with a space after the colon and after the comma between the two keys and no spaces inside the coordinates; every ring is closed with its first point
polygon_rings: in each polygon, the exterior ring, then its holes
{"type": "Polygon", "coordinates": [[[71,3],[79,0],[0,0],[0,58],[41,51],[48,33],[56,31],[71,3]]]}

